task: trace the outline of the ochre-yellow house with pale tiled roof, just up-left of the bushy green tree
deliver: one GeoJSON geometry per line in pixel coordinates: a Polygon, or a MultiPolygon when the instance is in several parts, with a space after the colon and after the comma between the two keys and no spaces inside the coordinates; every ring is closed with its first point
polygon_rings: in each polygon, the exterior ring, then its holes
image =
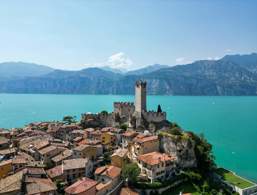
{"type": "Polygon", "coordinates": [[[128,161],[127,154],[128,154],[127,149],[120,148],[116,150],[111,157],[111,164],[113,166],[123,168],[128,161]]]}

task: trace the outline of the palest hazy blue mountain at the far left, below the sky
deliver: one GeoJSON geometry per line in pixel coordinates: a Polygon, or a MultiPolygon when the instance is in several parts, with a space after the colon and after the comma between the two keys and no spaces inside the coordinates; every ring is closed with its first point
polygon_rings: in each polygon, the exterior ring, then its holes
{"type": "Polygon", "coordinates": [[[3,78],[35,77],[52,72],[53,69],[33,63],[4,62],[0,63],[0,76],[3,78]]]}

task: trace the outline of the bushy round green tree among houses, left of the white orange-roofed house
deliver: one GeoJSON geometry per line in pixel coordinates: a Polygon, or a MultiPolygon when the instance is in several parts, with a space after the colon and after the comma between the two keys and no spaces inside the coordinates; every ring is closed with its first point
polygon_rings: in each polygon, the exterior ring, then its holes
{"type": "Polygon", "coordinates": [[[123,179],[127,179],[128,183],[135,183],[140,174],[140,169],[136,163],[126,164],[122,170],[123,179]]]}

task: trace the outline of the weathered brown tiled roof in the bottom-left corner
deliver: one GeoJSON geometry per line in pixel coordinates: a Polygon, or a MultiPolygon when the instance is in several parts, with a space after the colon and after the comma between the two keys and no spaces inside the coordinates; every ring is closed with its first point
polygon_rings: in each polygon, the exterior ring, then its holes
{"type": "Polygon", "coordinates": [[[8,194],[14,191],[21,191],[23,171],[0,180],[0,194],[8,194]]]}

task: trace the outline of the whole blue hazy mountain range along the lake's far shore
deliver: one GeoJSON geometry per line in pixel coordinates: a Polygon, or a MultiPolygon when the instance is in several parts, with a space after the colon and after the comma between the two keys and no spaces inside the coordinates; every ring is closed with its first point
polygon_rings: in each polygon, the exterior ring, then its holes
{"type": "Polygon", "coordinates": [[[133,94],[138,79],[147,81],[149,94],[254,96],[257,54],[176,66],[155,64],[129,72],[109,67],[67,71],[20,62],[0,64],[0,93],[133,94]]]}

